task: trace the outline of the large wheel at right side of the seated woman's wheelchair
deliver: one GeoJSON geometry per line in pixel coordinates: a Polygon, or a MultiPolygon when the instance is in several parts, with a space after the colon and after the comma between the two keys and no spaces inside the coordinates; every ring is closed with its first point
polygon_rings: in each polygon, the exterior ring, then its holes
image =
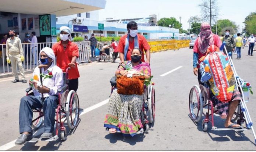
{"type": "Polygon", "coordinates": [[[153,123],[154,122],[154,118],[155,118],[155,109],[156,109],[156,105],[155,105],[155,94],[154,94],[154,89],[152,86],[150,86],[149,88],[149,123],[153,123]]]}

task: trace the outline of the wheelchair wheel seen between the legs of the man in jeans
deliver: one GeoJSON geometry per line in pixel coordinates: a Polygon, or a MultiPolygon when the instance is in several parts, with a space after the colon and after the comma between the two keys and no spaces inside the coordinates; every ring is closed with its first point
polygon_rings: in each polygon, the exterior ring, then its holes
{"type": "Polygon", "coordinates": [[[43,112],[42,109],[33,110],[32,128],[38,129],[43,124],[43,112]]]}

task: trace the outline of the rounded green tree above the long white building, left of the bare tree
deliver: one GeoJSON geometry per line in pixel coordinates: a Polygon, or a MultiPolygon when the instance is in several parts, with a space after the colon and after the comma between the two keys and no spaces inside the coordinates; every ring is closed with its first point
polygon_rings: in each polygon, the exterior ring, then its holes
{"type": "Polygon", "coordinates": [[[157,22],[158,26],[164,26],[164,27],[171,27],[171,28],[175,28],[175,29],[179,29],[179,33],[184,32],[182,29],[182,24],[179,23],[179,21],[174,18],[174,17],[170,17],[170,18],[161,18],[158,22],[157,22]],[[170,25],[170,26],[169,26],[170,25]]]}

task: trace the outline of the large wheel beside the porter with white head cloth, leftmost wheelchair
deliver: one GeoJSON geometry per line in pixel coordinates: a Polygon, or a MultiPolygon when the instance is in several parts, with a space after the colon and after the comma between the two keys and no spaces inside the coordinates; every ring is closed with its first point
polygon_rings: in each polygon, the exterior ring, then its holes
{"type": "Polygon", "coordinates": [[[79,119],[79,99],[74,90],[68,93],[66,104],[66,116],[67,124],[70,129],[74,129],[77,126],[79,119]]]}

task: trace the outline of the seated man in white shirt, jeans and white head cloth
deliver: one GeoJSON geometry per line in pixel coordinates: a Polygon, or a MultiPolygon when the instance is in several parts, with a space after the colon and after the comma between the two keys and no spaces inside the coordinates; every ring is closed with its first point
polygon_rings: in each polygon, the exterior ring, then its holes
{"type": "Polygon", "coordinates": [[[20,137],[15,141],[16,145],[24,144],[32,139],[32,109],[43,108],[44,112],[44,133],[41,138],[48,139],[53,136],[55,109],[58,105],[58,88],[63,85],[63,72],[53,64],[55,55],[53,50],[45,47],[40,51],[40,62],[46,67],[42,68],[42,75],[39,67],[36,67],[33,72],[33,77],[42,76],[40,80],[30,80],[30,86],[33,86],[33,95],[24,96],[21,98],[19,105],[19,133],[20,137]],[[41,85],[42,84],[42,85],[41,85]],[[43,95],[43,96],[42,96],[43,95]]]}

